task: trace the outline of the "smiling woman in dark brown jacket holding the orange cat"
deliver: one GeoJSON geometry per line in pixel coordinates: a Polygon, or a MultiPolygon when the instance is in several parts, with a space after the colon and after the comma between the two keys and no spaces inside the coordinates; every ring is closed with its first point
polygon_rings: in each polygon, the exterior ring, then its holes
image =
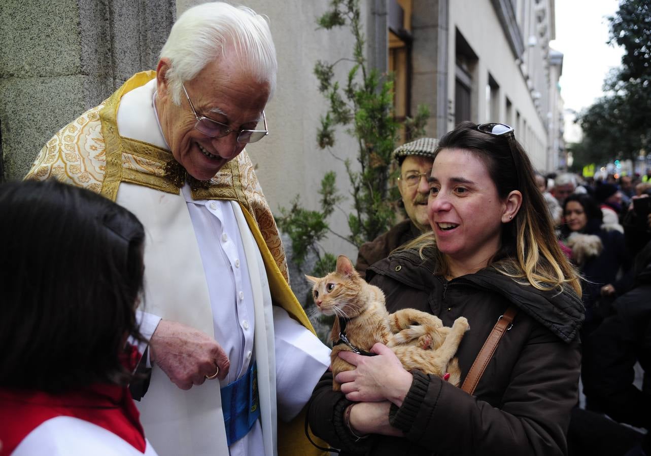
{"type": "Polygon", "coordinates": [[[566,453],[577,402],[583,307],[527,154],[503,124],[464,122],[439,141],[429,179],[433,232],[367,272],[389,312],[417,308],[470,324],[456,353],[462,381],[492,332],[516,316],[473,396],[402,368],[393,352],[342,352],[357,366],[326,373],[312,395],[312,431],[342,454],[566,453]],[[509,310],[510,312],[510,310],[509,310]]]}

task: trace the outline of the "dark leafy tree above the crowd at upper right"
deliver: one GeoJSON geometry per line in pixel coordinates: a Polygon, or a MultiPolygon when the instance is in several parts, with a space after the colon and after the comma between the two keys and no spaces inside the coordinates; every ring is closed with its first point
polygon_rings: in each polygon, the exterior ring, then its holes
{"type": "Polygon", "coordinates": [[[581,144],[570,146],[579,152],[576,165],[634,161],[640,150],[651,150],[651,3],[622,0],[608,20],[609,44],[624,49],[622,65],[604,81],[605,96],[577,118],[584,136],[581,144]]]}

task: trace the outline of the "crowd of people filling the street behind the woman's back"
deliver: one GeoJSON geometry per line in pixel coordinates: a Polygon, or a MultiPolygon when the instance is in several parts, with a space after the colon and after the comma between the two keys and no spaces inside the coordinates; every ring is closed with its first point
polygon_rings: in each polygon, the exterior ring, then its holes
{"type": "Polygon", "coordinates": [[[559,240],[581,272],[585,306],[585,410],[573,412],[570,451],[632,455],[644,454],[635,452],[644,448],[648,454],[651,442],[644,433],[651,420],[641,417],[649,415],[644,410],[651,392],[640,370],[651,368],[651,181],[648,175],[551,177],[551,194],[562,206],[559,240]],[[617,427],[612,420],[641,432],[617,427]]]}

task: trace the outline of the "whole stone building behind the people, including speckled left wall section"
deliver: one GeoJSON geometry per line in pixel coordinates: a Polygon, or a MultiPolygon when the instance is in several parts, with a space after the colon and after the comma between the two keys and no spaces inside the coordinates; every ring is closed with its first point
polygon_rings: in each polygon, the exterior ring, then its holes
{"type": "MultiPolygon", "coordinates": [[[[158,52],[178,14],[196,0],[33,0],[0,7],[0,173],[21,178],[44,142],[130,75],[156,68],[158,52]],[[33,40],[31,36],[38,36],[33,40]]],[[[278,212],[298,194],[318,208],[317,189],[335,170],[350,192],[344,160],[357,143],[340,129],[320,150],[316,129],[326,111],[313,74],[316,60],[352,57],[348,29],[317,29],[329,1],[242,2],[270,21],[279,61],[278,87],[266,109],[270,135],[247,150],[278,212]]],[[[440,137],[462,120],[503,122],[541,171],[563,165],[562,55],[554,38],[554,0],[361,0],[370,66],[395,74],[398,119],[428,107],[426,135],[440,137]]],[[[343,80],[350,66],[337,67],[343,80]]],[[[349,200],[350,202],[350,200],[349,200]]],[[[331,228],[348,234],[346,202],[331,228]]],[[[323,247],[356,256],[332,236],[323,247]]]]}

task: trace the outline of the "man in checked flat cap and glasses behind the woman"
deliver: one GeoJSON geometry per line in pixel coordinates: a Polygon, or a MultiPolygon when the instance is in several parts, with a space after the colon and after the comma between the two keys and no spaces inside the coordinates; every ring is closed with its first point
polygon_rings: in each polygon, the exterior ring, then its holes
{"type": "Polygon", "coordinates": [[[432,229],[427,219],[430,193],[427,178],[432,174],[437,145],[435,138],[420,138],[393,151],[393,158],[400,166],[398,191],[408,218],[359,248],[355,269],[362,277],[370,265],[387,258],[396,248],[432,229]]]}

